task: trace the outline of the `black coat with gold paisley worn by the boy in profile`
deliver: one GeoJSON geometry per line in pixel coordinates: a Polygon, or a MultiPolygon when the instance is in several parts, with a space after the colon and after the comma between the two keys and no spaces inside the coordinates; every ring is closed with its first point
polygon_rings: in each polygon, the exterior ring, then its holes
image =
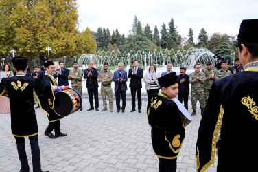
{"type": "Polygon", "coordinates": [[[185,127],[176,103],[161,93],[154,94],[148,120],[152,126],[152,147],[156,156],[176,158],[185,139],[185,127]]]}

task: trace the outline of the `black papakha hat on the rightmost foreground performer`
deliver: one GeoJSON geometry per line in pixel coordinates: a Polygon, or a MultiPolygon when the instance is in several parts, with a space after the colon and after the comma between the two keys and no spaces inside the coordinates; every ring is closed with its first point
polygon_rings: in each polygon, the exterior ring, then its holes
{"type": "Polygon", "coordinates": [[[242,43],[258,43],[258,19],[242,20],[237,41],[242,43]]]}

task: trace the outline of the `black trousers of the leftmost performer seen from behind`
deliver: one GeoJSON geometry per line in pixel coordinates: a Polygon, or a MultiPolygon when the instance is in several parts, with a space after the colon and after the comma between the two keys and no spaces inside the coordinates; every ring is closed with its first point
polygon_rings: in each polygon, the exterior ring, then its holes
{"type": "MultiPolygon", "coordinates": [[[[30,166],[27,162],[27,155],[25,151],[25,138],[24,137],[15,137],[17,150],[19,159],[21,162],[21,171],[30,171],[30,166]]],[[[33,171],[41,171],[41,164],[40,164],[40,150],[38,146],[38,135],[36,136],[30,136],[30,148],[32,151],[32,166],[33,171]]]]}

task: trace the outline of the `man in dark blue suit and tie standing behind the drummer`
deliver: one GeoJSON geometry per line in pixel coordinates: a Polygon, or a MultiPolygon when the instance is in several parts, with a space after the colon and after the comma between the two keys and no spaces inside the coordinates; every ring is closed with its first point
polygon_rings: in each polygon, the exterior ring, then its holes
{"type": "Polygon", "coordinates": [[[68,76],[69,76],[69,69],[65,68],[65,63],[60,61],[59,62],[60,68],[56,70],[56,74],[53,75],[54,78],[58,78],[58,86],[69,86],[68,83],[68,76]]]}

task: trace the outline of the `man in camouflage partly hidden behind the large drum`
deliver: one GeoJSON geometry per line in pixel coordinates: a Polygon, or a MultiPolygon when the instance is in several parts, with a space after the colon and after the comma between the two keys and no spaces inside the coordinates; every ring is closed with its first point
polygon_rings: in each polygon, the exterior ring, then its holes
{"type": "MultiPolygon", "coordinates": [[[[73,69],[70,70],[68,80],[71,80],[71,87],[76,89],[82,98],[82,76],[83,69],[79,69],[77,61],[73,61],[73,69]]],[[[80,106],[82,111],[82,103],[80,106]]]]}

